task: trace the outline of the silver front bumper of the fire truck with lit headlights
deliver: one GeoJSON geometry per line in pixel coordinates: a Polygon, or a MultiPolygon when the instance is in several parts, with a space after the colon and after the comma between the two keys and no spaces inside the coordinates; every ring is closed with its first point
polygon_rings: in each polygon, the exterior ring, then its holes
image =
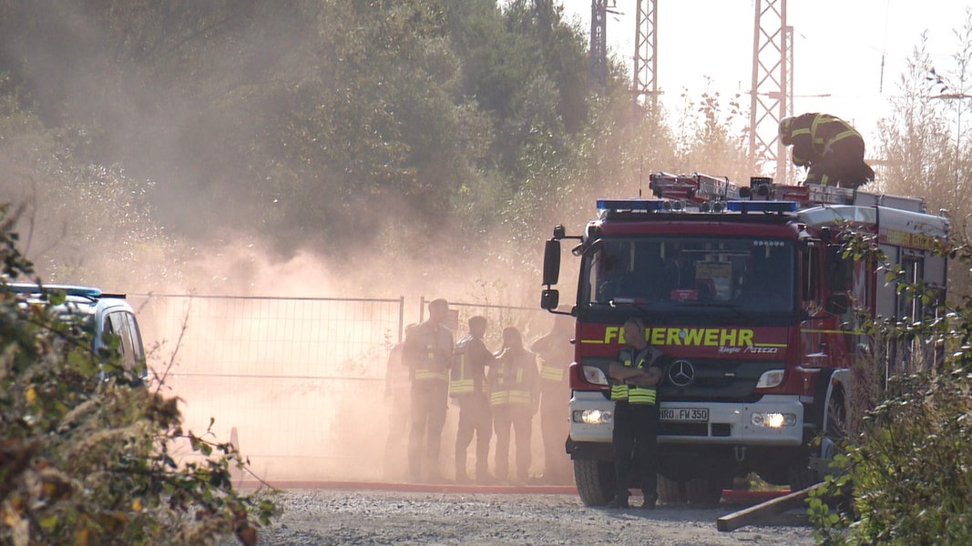
{"type": "MultiPolygon", "coordinates": [[[[662,402],[662,444],[800,446],[804,407],[796,395],[769,394],[751,403],[662,402]]],[[[601,392],[574,392],[571,440],[609,443],[614,403],[601,392]]]]}

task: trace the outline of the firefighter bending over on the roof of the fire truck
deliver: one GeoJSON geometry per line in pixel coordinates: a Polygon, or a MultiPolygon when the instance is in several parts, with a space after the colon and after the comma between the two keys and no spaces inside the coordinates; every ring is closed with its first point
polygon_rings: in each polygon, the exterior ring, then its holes
{"type": "Polygon", "coordinates": [[[851,124],[827,114],[780,121],[780,141],[793,147],[793,164],[810,167],[807,184],[857,188],[874,180],[864,162],[864,139],[851,124]]]}

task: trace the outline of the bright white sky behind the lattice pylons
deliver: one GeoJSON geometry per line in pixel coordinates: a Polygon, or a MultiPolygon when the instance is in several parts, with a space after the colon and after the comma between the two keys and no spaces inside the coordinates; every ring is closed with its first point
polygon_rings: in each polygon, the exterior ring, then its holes
{"type": "MultiPolygon", "coordinates": [[[[589,32],[590,0],[558,3],[567,20],[589,32]]],[[[608,52],[630,67],[637,1],[608,0],[612,5],[621,14],[608,15],[608,52]]],[[[718,91],[723,105],[742,93],[748,109],[755,0],[656,0],[656,6],[655,76],[669,116],[680,111],[683,88],[696,101],[707,89],[718,91]]],[[[877,121],[889,116],[888,99],[900,94],[901,75],[921,33],[927,31],[927,51],[938,72],[952,70],[959,51],[955,32],[969,9],[972,2],[961,0],[789,0],[794,113],[847,119],[865,142],[874,142],[877,121]]]]}

